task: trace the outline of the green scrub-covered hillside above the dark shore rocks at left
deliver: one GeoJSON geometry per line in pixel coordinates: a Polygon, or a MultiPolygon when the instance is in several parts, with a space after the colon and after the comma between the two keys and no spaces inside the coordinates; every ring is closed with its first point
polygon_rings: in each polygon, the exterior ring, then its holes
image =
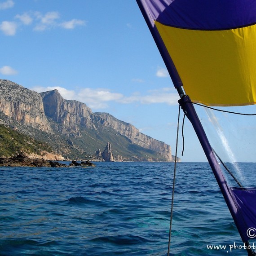
{"type": "Polygon", "coordinates": [[[52,148],[45,142],[0,124],[0,157],[10,157],[22,152],[40,154],[42,151],[52,152],[52,148]]]}

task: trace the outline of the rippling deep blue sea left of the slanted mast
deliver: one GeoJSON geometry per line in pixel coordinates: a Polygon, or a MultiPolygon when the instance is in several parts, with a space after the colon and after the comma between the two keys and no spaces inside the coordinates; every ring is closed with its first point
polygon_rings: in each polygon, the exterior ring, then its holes
{"type": "MultiPolygon", "coordinates": [[[[0,255],[167,255],[174,163],[96,165],[1,167],[0,255]]],[[[242,246],[209,164],[177,163],[170,255],[242,246]]]]}

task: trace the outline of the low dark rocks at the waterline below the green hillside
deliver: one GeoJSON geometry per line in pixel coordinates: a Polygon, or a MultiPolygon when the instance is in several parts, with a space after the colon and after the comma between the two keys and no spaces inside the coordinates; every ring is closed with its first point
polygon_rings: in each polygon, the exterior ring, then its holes
{"type": "MultiPolygon", "coordinates": [[[[76,161],[72,161],[74,165],[70,166],[93,166],[95,167],[95,164],[90,163],[88,160],[86,162],[76,163],[76,161]],[[82,164],[83,163],[83,164],[82,164]]],[[[64,163],[59,163],[57,161],[47,161],[44,159],[30,159],[24,154],[18,154],[16,156],[7,158],[7,157],[1,157],[0,158],[0,166],[17,166],[17,167],[68,167],[64,163]]]]}

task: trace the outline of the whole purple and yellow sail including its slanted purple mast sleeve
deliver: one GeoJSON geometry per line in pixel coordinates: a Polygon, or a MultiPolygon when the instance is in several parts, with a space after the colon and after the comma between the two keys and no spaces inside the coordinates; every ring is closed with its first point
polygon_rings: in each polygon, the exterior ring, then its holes
{"type": "Polygon", "coordinates": [[[137,4],[243,242],[256,239],[256,188],[228,184],[191,104],[256,103],[256,1],[137,0],[137,4]]]}

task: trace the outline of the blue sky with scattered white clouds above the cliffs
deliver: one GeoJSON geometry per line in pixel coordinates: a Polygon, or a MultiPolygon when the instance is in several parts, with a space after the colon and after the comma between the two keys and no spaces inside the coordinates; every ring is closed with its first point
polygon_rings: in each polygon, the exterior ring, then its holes
{"type": "MultiPolygon", "coordinates": [[[[175,154],[179,97],[135,0],[0,0],[0,14],[1,79],[57,89],[175,154]]],[[[178,157],[207,161],[188,120],[183,156],[179,133],[178,157]]]]}

